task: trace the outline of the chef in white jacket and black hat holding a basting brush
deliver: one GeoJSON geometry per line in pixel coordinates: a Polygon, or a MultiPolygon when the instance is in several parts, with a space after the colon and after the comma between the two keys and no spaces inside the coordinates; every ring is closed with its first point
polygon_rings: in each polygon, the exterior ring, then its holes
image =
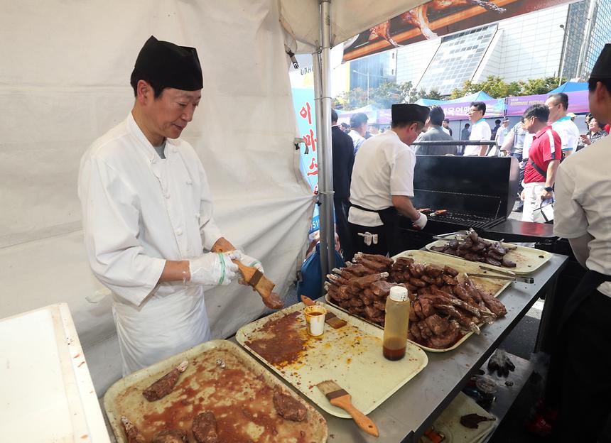
{"type": "Polygon", "coordinates": [[[179,138],[201,97],[195,48],[151,36],[131,86],[133,109],[83,155],[78,182],[87,256],[112,290],[124,375],[210,339],[203,286],[229,285],[232,259],[262,270],[223,238],[202,163],[179,138]]]}

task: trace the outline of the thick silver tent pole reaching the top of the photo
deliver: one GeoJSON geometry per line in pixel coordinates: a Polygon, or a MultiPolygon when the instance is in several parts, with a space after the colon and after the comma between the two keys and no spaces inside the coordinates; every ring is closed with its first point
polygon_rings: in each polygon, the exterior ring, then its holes
{"type": "MultiPolygon", "coordinates": [[[[320,0],[320,133],[318,133],[318,177],[319,192],[323,204],[320,206],[320,255],[327,253],[327,268],[323,275],[335,266],[335,217],[333,205],[333,155],[331,147],[331,20],[330,0],[320,0]],[[322,143],[321,143],[322,142],[322,143]],[[322,178],[322,180],[321,180],[322,178]],[[323,242],[326,248],[323,248],[323,242]]],[[[322,265],[321,261],[321,265],[322,265]]],[[[324,279],[323,279],[324,280],[324,279]]]]}

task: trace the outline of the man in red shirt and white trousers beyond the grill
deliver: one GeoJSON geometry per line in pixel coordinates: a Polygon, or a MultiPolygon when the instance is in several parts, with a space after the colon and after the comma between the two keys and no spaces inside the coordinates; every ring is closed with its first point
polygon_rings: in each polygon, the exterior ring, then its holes
{"type": "Polygon", "coordinates": [[[545,223],[553,219],[553,211],[546,211],[544,207],[553,201],[553,182],[562,158],[562,141],[547,124],[548,119],[549,109],[543,104],[534,104],[524,111],[524,129],[535,135],[524,168],[522,222],[545,223]]]}

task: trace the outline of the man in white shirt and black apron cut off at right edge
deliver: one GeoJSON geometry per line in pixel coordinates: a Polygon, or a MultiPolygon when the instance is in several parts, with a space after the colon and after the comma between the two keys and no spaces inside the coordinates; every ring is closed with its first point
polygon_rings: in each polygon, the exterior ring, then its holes
{"type": "MultiPolygon", "coordinates": [[[[593,116],[610,121],[610,43],[593,67],[588,90],[593,116]]],[[[546,389],[546,407],[559,408],[553,433],[561,442],[602,441],[611,413],[610,151],[611,138],[586,146],[561,163],[556,179],[553,232],[568,239],[588,269],[560,317],[546,389]]]]}

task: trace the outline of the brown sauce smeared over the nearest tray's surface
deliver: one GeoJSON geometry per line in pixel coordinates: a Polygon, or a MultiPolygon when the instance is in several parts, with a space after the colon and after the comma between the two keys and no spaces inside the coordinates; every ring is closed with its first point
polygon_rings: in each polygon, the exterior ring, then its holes
{"type": "Polygon", "coordinates": [[[163,429],[190,434],[193,419],[205,411],[214,413],[222,442],[320,441],[311,411],[304,422],[284,420],[274,408],[274,390],[266,379],[222,349],[193,359],[165,398],[148,402],[141,392],[141,386],[133,385],[117,396],[117,411],[139,427],[146,441],[163,429]],[[226,368],[217,366],[217,359],[225,361],[226,368]]]}

